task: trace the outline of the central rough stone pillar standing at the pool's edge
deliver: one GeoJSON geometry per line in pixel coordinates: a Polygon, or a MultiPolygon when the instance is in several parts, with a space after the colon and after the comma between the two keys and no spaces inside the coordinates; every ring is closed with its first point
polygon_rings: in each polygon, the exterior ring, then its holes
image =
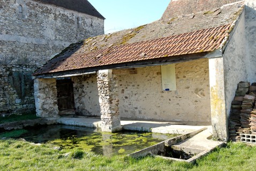
{"type": "Polygon", "coordinates": [[[97,75],[97,87],[101,106],[101,130],[116,132],[122,130],[119,115],[117,77],[111,69],[100,70],[97,75]]]}

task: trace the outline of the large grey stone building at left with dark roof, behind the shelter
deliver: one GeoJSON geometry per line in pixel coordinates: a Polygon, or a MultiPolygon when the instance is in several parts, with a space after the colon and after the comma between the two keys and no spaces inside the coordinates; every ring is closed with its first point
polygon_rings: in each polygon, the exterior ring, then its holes
{"type": "Polygon", "coordinates": [[[104,17],[87,0],[0,0],[0,114],[35,110],[35,69],[102,34],[104,17]]]}

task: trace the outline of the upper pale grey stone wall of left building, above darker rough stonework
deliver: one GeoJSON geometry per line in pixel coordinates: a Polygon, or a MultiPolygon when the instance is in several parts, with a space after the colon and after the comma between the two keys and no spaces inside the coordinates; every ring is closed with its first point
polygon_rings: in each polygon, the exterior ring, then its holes
{"type": "Polygon", "coordinates": [[[1,0],[0,21],[1,64],[41,66],[69,44],[104,34],[103,19],[32,0],[1,0]]]}

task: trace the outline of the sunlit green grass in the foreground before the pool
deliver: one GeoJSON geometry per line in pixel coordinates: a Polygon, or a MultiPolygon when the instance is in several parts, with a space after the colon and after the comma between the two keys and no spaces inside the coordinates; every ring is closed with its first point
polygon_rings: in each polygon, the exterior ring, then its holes
{"type": "Polygon", "coordinates": [[[0,140],[0,170],[255,170],[255,160],[256,146],[242,143],[228,143],[193,165],[153,157],[107,158],[78,149],[57,150],[51,144],[0,140]]]}

